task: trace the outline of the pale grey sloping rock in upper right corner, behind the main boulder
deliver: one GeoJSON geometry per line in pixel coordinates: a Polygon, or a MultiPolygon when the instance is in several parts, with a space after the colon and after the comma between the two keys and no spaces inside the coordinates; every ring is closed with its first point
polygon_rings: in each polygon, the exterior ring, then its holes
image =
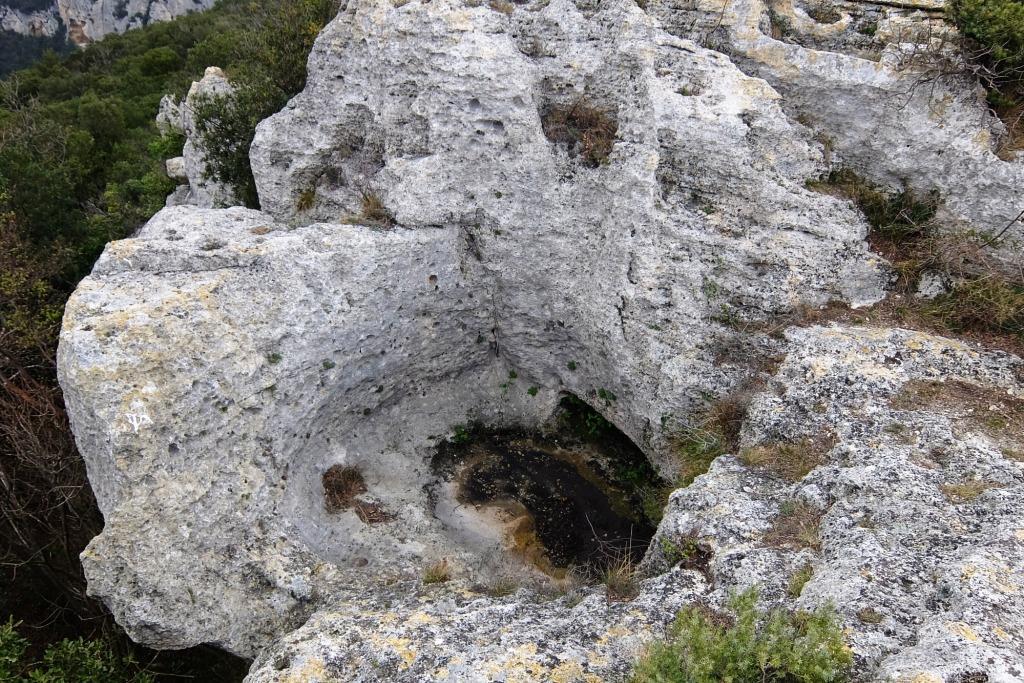
{"type": "Polygon", "coordinates": [[[995,232],[1024,209],[1024,164],[994,154],[1006,131],[976,81],[937,78],[955,61],[942,7],[930,1],[647,4],[671,33],[733,55],[744,72],[771,83],[834,167],[851,167],[894,189],[937,191],[945,224],[995,232]],[[822,7],[830,15],[822,16],[822,7]]]}

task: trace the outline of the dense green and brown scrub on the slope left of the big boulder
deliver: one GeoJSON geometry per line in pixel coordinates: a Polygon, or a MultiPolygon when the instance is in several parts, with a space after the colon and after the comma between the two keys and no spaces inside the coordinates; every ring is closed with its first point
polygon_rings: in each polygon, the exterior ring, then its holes
{"type": "MultiPolygon", "coordinates": [[[[312,38],[331,15],[328,0],[221,0],[202,14],[73,54],[47,53],[0,81],[2,613],[45,622],[51,635],[90,635],[111,624],[85,595],[78,554],[102,519],[68,426],[54,357],[67,297],[104,245],[131,234],[174,188],[164,161],[180,154],[182,140],[157,130],[162,96],[182,95],[208,66],[224,68],[240,92],[260,93],[245,109],[249,118],[232,121],[231,150],[248,152],[258,119],[302,87],[312,38]],[[45,614],[25,597],[40,593],[50,596],[45,614]]],[[[217,680],[232,680],[236,670],[217,680]]]]}

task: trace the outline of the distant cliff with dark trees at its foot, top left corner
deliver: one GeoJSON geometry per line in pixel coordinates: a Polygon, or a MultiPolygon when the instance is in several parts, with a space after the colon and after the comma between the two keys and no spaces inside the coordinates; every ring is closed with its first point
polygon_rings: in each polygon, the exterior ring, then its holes
{"type": "Polygon", "coordinates": [[[216,0],[6,0],[0,3],[0,74],[28,66],[47,48],[83,46],[216,0]]]}

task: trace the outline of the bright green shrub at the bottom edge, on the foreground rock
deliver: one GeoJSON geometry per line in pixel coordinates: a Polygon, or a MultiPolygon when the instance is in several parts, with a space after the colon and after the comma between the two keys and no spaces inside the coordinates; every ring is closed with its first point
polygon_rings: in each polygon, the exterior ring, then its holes
{"type": "Polygon", "coordinates": [[[703,607],[679,612],[666,641],[651,645],[633,683],[843,681],[853,663],[830,606],[813,612],[758,609],[750,589],[729,601],[732,614],[703,607]]]}

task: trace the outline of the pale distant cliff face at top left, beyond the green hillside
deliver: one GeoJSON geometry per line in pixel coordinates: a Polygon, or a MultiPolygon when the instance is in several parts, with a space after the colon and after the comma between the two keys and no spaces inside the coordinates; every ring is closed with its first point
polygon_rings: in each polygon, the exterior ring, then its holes
{"type": "Polygon", "coordinates": [[[214,0],[54,0],[35,11],[0,4],[0,28],[26,36],[55,36],[60,28],[79,46],[111,33],[124,33],[152,22],[166,22],[213,6],[214,0]]]}

